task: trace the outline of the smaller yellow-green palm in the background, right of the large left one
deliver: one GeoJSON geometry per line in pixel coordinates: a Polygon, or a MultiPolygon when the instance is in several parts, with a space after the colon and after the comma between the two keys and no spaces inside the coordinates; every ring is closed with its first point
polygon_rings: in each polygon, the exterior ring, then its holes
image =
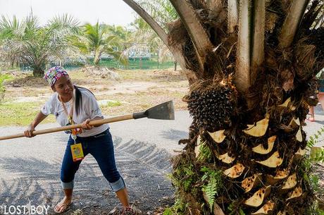
{"type": "Polygon", "coordinates": [[[112,31],[108,25],[95,25],[89,23],[82,27],[82,33],[77,36],[70,37],[70,42],[79,48],[83,54],[92,54],[94,56],[93,63],[99,66],[101,54],[106,53],[113,56],[118,61],[123,61],[120,57],[121,38],[118,37],[116,31],[112,31]]]}

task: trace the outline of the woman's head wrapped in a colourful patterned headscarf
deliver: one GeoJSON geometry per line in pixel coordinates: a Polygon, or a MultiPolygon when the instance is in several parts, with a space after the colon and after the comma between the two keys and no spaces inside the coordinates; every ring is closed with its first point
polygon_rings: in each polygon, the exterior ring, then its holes
{"type": "Polygon", "coordinates": [[[58,92],[62,97],[68,97],[73,94],[73,84],[66,70],[61,66],[50,68],[44,79],[49,82],[51,89],[58,92]]]}

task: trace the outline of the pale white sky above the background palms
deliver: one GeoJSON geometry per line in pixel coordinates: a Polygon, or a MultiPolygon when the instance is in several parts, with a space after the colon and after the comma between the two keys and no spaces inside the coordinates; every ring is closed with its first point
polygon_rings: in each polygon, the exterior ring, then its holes
{"type": "Polygon", "coordinates": [[[25,18],[32,9],[42,25],[47,20],[68,13],[80,23],[106,23],[128,26],[135,12],[123,0],[0,0],[0,15],[25,18]]]}

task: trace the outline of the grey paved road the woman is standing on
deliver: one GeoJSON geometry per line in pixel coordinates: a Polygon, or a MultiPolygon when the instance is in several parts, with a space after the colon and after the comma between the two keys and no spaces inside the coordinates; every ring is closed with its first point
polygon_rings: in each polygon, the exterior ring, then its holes
{"type": "MultiPolygon", "coordinates": [[[[182,149],[177,141],[187,138],[190,123],[187,111],[177,111],[175,121],[138,119],[110,125],[118,168],[132,202],[142,210],[150,211],[163,197],[172,196],[173,188],[166,179],[171,169],[169,159],[175,154],[173,149],[182,149]]],[[[304,130],[312,135],[323,125],[324,112],[318,106],[316,122],[307,122],[304,130]]],[[[56,126],[39,125],[38,129],[56,126]]],[[[21,127],[0,127],[1,136],[22,131],[21,127]]],[[[66,134],[55,133],[0,142],[0,206],[31,201],[53,207],[58,202],[62,197],[59,169],[66,139],[66,134]]],[[[118,204],[92,156],[82,162],[75,181],[75,209],[112,209],[118,204]]]]}

